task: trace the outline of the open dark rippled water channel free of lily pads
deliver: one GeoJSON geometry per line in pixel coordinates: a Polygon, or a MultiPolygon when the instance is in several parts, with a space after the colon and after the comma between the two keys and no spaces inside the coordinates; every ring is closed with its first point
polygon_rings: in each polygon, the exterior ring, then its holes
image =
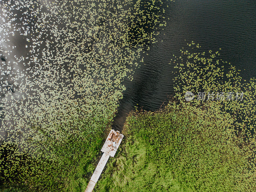
{"type": "Polygon", "coordinates": [[[255,0],[177,0],[164,2],[167,26],[156,37],[145,65],[125,82],[126,91],[114,119],[113,128],[122,129],[127,114],[137,105],[157,110],[173,93],[172,55],[194,41],[203,51],[220,51],[220,58],[237,69],[245,79],[256,74],[255,0]],[[168,7],[167,7],[168,5],[168,7]],[[163,42],[162,42],[163,40],[163,42]],[[186,40],[186,41],[185,41],[186,40]],[[153,46],[154,45],[154,46],[153,46]]]}

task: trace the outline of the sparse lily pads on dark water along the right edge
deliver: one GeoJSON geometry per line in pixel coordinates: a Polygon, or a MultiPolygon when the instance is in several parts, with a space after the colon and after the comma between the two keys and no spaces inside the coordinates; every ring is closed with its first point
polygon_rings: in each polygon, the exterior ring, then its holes
{"type": "MultiPolygon", "coordinates": [[[[241,70],[219,58],[219,51],[195,52],[199,44],[188,44],[191,51],[180,50],[182,55],[175,62],[177,76],[174,80],[174,98],[188,110],[194,111],[196,116],[206,119],[221,119],[224,143],[239,145],[238,153],[246,156],[250,164],[249,170],[244,170],[250,178],[256,178],[256,84],[255,78],[249,81],[240,76],[241,70]],[[185,92],[206,92],[213,96],[224,93],[243,93],[243,99],[200,100],[199,95],[194,100],[186,101],[185,92]],[[197,113],[197,114],[196,114],[197,113]],[[207,114],[204,114],[207,113],[207,114]],[[224,117],[224,118],[223,118],[224,117]],[[236,140],[237,143],[233,141],[236,140]],[[240,151],[239,151],[240,150],[240,151]]],[[[174,65],[175,65],[174,64],[174,65]]],[[[207,95],[206,95],[207,97],[207,95]]],[[[206,99],[206,98],[205,98],[206,99]]]]}

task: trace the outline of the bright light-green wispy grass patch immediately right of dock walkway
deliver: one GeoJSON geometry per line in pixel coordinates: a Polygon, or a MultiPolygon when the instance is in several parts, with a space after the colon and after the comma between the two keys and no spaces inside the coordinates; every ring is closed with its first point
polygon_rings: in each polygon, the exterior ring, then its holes
{"type": "Polygon", "coordinates": [[[179,183],[171,172],[148,158],[143,141],[134,140],[131,136],[121,148],[123,151],[119,156],[110,159],[96,191],[180,191],[179,183]]]}

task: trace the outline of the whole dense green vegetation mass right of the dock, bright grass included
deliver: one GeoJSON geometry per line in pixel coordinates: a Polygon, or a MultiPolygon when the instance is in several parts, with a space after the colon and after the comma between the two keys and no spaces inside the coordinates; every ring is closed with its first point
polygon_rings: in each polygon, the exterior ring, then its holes
{"type": "Polygon", "coordinates": [[[226,117],[210,112],[197,115],[192,106],[173,104],[155,113],[131,113],[126,139],[95,191],[256,191],[251,151],[235,136],[228,140],[226,117]]]}

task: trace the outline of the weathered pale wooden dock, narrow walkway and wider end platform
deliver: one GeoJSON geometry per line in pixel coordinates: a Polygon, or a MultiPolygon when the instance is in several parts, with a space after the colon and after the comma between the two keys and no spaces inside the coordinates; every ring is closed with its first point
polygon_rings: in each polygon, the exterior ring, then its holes
{"type": "Polygon", "coordinates": [[[92,177],[84,192],[92,192],[93,188],[96,185],[96,182],[100,178],[100,174],[103,171],[109,156],[111,157],[115,156],[117,148],[119,147],[123,138],[124,138],[123,134],[111,129],[111,131],[108,134],[107,140],[105,141],[103,147],[101,148],[101,151],[104,153],[101,156],[100,162],[98,163],[95,171],[93,172],[92,177]]]}

